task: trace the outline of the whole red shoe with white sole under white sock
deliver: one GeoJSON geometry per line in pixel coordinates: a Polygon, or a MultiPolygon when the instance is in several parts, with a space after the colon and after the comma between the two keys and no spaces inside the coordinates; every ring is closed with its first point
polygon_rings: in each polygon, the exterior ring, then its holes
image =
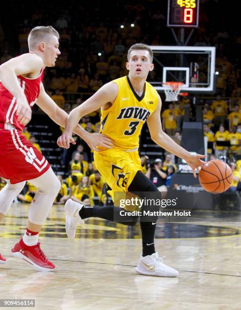
{"type": "Polygon", "coordinates": [[[40,248],[40,242],[34,246],[24,244],[22,237],[12,248],[12,255],[29,262],[38,271],[52,271],[55,265],[48,260],[40,248]]]}

